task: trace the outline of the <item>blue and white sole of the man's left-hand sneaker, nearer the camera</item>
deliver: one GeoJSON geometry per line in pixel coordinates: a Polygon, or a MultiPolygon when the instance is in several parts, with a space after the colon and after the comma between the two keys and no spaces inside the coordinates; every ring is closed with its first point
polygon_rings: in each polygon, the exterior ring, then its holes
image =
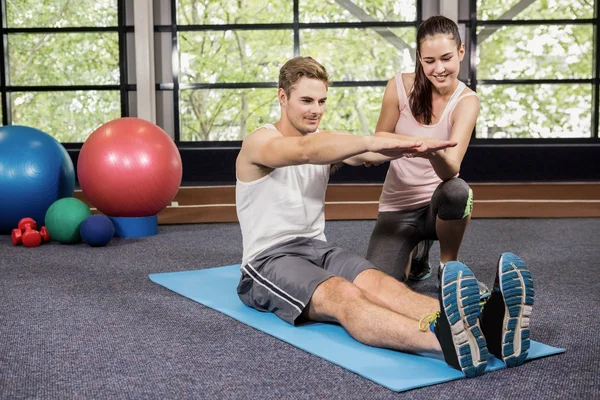
{"type": "Polygon", "coordinates": [[[489,356],[479,326],[479,287],[473,272],[461,262],[446,264],[442,303],[452,329],[452,341],[462,372],[469,378],[483,374],[489,356]]]}

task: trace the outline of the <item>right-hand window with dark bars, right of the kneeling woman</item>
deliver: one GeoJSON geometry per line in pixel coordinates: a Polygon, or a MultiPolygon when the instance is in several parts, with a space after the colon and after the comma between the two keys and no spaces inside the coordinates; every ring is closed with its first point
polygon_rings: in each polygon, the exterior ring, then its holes
{"type": "Polygon", "coordinates": [[[597,137],[593,1],[477,0],[478,139],[597,137]]]}

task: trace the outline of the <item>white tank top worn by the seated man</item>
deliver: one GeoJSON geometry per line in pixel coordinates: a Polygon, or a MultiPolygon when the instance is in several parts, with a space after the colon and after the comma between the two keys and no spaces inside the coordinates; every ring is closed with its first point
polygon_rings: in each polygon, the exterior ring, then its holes
{"type": "MultiPolygon", "coordinates": [[[[267,124],[267,129],[277,130],[267,124]]],[[[325,240],[325,192],[330,165],[276,168],[252,182],[236,179],[235,205],[242,229],[242,265],[261,251],[295,237],[325,240]]]]}

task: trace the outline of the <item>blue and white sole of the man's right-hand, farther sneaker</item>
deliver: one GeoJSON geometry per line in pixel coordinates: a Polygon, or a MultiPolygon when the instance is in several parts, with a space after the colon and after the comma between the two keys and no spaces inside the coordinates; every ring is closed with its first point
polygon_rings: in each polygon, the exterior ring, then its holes
{"type": "Polygon", "coordinates": [[[498,269],[504,297],[502,361],[507,367],[517,367],[525,362],[529,353],[529,318],[535,296],[533,280],[527,265],[513,253],[502,253],[498,269]]]}

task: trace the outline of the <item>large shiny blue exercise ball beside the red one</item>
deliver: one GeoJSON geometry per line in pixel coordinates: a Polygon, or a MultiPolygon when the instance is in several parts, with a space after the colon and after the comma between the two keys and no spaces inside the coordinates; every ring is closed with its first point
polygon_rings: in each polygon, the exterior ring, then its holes
{"type": "Polygon", "coordinates": [[[74,190],[73,162],[56,139],[27,126],[0,127],[0,234],[24,217],[39,229],[52,203],[74,190]]]}

